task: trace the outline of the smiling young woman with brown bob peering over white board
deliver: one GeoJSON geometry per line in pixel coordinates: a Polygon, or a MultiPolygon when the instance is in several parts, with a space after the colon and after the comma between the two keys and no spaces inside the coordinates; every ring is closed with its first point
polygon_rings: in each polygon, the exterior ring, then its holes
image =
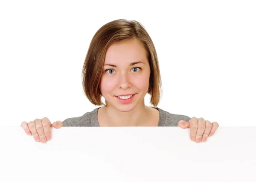
{"type": "Polygon", "coordinates": [[[162,92],[157,53],[145,28],[135,20],[114,20],[99,28],[91,40],[82,78],[87,98],[103,106],[52,125],[47,117],[22,122],[26,134],[46,142],[51,138],[50,126],[179,126],[190,127],[192,141],[205,142],[218,128],[217,122],[157,108],[162,92]],[[154,107],[145,105],[147,93],[154,107]]]}

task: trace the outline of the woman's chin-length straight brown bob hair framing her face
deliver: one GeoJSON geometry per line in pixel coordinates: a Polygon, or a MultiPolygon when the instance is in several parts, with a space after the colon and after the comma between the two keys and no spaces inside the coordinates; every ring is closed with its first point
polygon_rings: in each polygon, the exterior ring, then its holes
{"type": "Polygon", "coordinates": [[[106,106],[101,100],[99,84],[108,48],[113,43],[123,43],[133,39],[140,40],[147,51],[150,65],[148,94],[151,95],[150,104],[154,105],[154,108],[157,107],[162,95],[162,83],[154,43],[141,23],[125,19],[113,20],[105,24],[99,28],[90,42],[81,77],[85,95],[93,105],[106,106]]]}

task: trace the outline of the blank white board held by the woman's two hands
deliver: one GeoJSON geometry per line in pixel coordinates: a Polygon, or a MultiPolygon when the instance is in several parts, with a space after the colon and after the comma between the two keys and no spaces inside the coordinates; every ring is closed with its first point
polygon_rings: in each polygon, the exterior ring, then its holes
{"type": "Polygon", "coordinates": [[[41,143],[21,127],[0,127],[0,181],[256,181],[256,127],[219,127],[201,143],[179,127],[51,130],[41,143]]]}

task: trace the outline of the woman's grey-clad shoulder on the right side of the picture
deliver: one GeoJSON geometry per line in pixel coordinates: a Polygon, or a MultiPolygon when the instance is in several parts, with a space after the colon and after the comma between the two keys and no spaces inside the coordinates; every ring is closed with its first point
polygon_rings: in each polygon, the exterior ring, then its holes
{"type": "Polygon", "coordinates": [[[191,119],[190,117],[186,115],[181,115],[181,114],[172,114],[169,113],[168,111],[164,111],[160,108],[159,109],[159,124],[158,126],[177,126],[178,122],[180,120],[189,122],[191,119]]]}

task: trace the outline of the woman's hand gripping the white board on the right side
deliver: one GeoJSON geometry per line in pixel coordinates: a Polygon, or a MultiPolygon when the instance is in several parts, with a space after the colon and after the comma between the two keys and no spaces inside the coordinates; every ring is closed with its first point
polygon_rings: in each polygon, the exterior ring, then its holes
{"type": "Polygon", "coordinates": [[[190,139],[198,143],[206,142],[208,136],[212,137],[215,131],[219,127],[218,122],[209,122],[204,120],[204,118],[192,117],[189,122],[180,120],[178,122],[180,128],[190,128],[190,139]]]}

